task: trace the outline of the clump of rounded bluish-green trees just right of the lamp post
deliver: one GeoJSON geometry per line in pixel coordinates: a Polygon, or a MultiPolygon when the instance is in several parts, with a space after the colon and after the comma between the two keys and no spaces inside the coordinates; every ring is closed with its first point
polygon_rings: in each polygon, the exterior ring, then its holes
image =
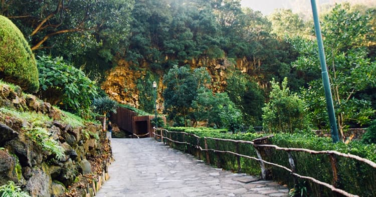
{"type": "Polygon", "coordinates": [[[174,66],[163,80],[166,84],[163,91],[164,112],[174,118],[178,126],[189,123],[197,126],[198,122],[204,121],[233,132],[240,130],[243,114],[227,93],[213,93],[207,88],[210,81],[211,77],[204,67],[191,72],[186,67],[174,66]]]}

